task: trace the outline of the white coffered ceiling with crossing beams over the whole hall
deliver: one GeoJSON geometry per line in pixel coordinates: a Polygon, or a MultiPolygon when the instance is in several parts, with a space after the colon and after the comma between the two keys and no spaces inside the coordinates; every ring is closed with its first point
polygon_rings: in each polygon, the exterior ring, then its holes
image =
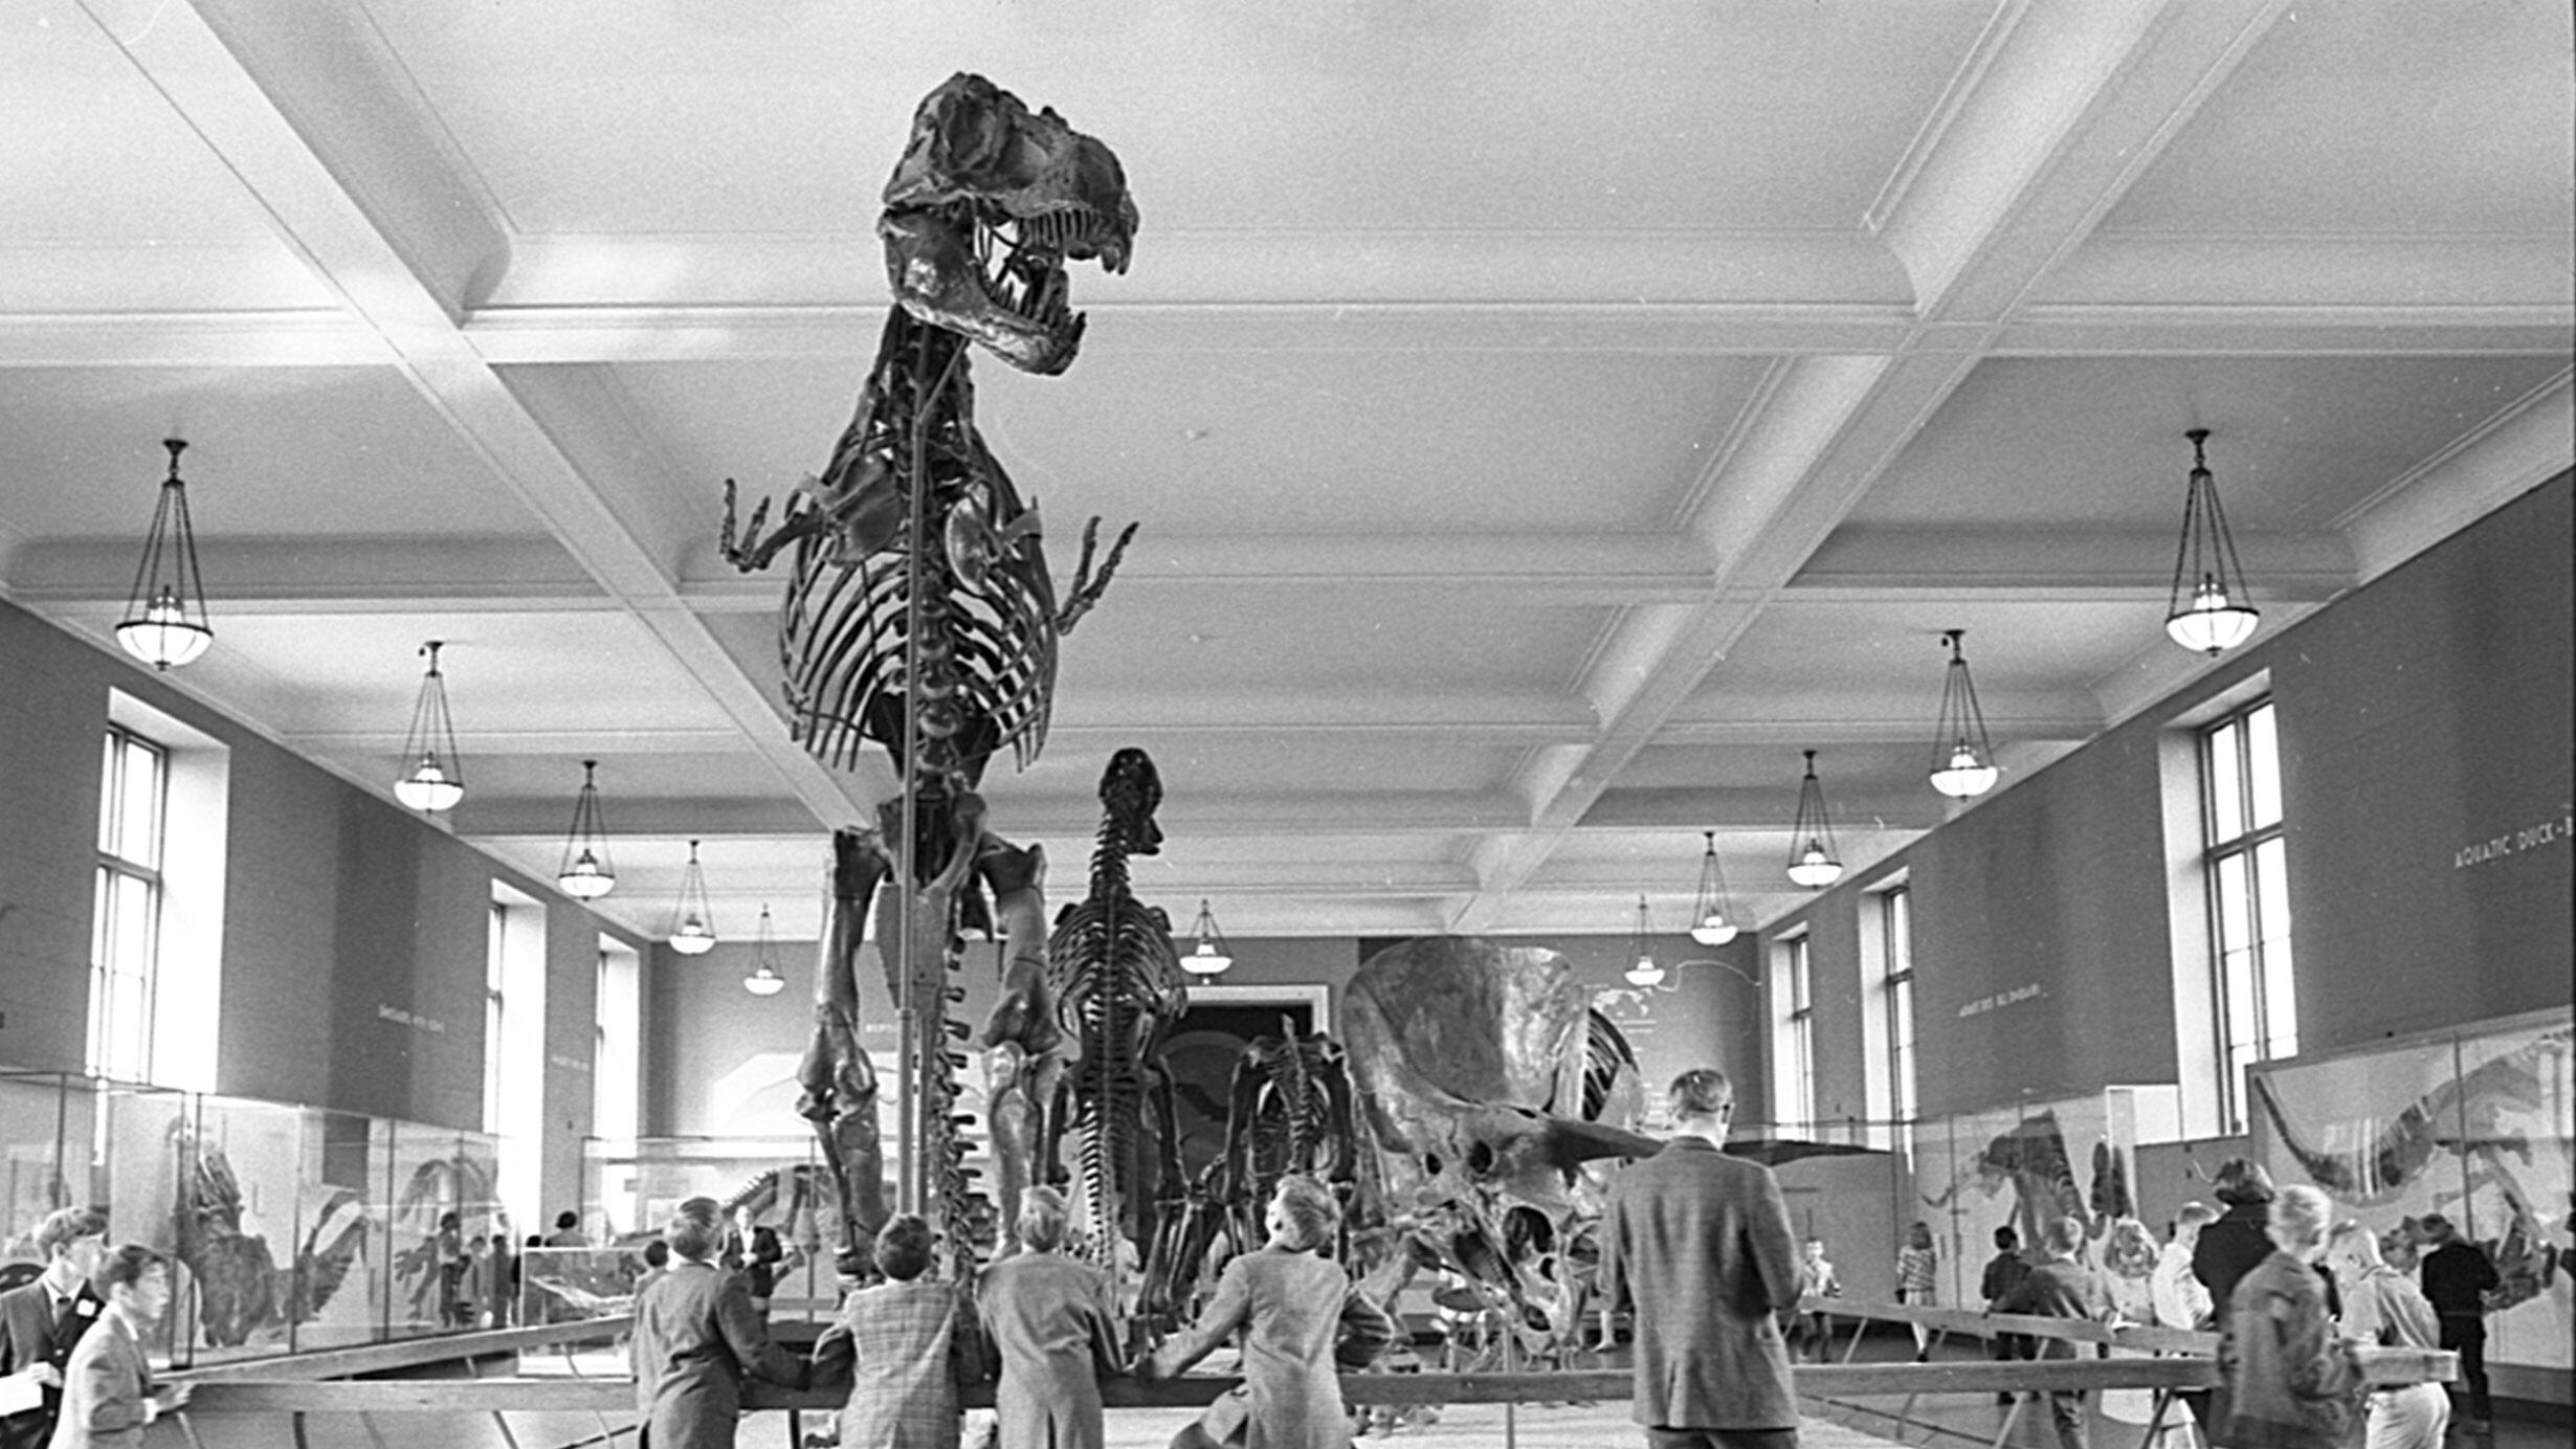
{"type": "MultiPolygon", "coordinates": [[[[2571,463],[2563,0],[23,0],[0,13],[0,589],[106,641],[188,438],[175,679],[389,793],[425,638],[469,798],[554,872],[600,759],[659,934],[811,932],[891,790],[778,713],[721,481],[822,466],[878,188],[976,69],[1123,160],[1079,363],[979,427],[1136,520],[992,824],[1231,934],[1680,929],[1924,785],[1965,628],[2004,785],[2166,643],[2187,427],[2277,631],[2571,463]]],[[[1973,806],[1968,806],[1973,808],[1973,806]]]]}

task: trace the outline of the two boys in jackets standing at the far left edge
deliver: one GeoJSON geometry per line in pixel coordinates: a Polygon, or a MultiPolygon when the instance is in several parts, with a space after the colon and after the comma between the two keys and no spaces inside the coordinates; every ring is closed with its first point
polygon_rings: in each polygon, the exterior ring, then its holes
{"type": "Polygon", "coordinates": [[[170,1310],[170,1261],[108,1246],[108,1215],[62,1207],[36,1228],[44,1269],[0,1292],[0,1449],[126,1449],[188,1403],[152,1382],[144,1341],[170,1310]]]}

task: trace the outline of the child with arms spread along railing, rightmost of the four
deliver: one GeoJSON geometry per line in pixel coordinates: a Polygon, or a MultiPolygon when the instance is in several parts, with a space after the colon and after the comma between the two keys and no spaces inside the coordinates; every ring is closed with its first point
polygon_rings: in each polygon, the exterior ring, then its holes
{"type": "Polygon", "coordinates": [[[1283,1176],[1270,1197],[1270,1243],[1239,1253],[1216,1279],[1198,1323],[1144,1364],[1172,1377],[1244,1333],[1244,1382],[1172,1436],[1172,1449],[1350,1449],[1337,1361],[1363,1367],[1394,1336],[1394,1320],[1352,1292],[1342,1264],[1321,1256],[1342,1225],[1332,1192],[1283,1176]]]}

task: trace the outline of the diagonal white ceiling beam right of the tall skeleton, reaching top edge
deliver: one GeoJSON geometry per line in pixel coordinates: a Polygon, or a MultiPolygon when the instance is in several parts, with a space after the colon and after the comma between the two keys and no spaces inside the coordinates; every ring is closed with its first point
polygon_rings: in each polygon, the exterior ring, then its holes
{"type": "MultiPolygon", "coordinates": [[[[2282,3],[2007,5],[1873,216],[1914,281],[1919,324],[2009,319],[2282,3]]],[[[1602,739],[1533,752],[1517,780],[1533,829],[1479,844],[1481,888],[1450,929],[1484,929],[1540,875],[1747,628],[1754,605],[1728,595],[1785,587],[1976,355],[1806,358],[1762,383],[1698,492],[1710,499],[1695,528],[1718,548],[1721,592],[1687,610],[1628,610],[1613,625],[1587,672],[1602,739]]]]}

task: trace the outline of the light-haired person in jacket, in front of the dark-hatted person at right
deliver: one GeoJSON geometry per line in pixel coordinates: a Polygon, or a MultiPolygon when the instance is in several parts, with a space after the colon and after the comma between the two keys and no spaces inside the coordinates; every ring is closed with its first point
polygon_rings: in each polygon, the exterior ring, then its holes
{"type": "Polygon", "coordinates": [[[2331,1212],[2306,1184],[2272,1199],[2272,1256],[2236,1279],[2221,1318],[2210,1418],[2221,1449],[2342,1449],[2352,1436],[2362,1377],[2316,1277],[2331,1212]]]}

